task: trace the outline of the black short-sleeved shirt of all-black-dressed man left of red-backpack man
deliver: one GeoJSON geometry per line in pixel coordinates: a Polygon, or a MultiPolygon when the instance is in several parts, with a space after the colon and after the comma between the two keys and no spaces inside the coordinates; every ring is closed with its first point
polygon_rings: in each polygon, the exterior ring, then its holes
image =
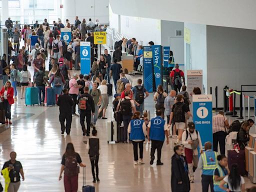
{"type": "Polygon", "coordinates": [[[57,105],[59,106],[59,112],[72,113],[72,105],[74,101],[69,94],[63,94],[58,97],[57,105]]]}

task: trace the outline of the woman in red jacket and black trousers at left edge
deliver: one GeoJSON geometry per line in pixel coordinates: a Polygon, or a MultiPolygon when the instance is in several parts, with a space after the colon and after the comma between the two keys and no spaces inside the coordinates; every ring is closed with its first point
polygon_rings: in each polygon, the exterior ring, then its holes
{"type": "Polygon", "coordinates": [[[1,91],[1,98],[3,99],[3,105],[4,105],[4,110],[5,110],[5,123],[8,123],[9,119],[9,124],[12,124],[10,121],[11,115],[10,115],[10,107],[11,104],[14,103],[13,100],[13,88],[10,85],[10,81],[6,81],[4,86],[2,87],[1,91]]]}

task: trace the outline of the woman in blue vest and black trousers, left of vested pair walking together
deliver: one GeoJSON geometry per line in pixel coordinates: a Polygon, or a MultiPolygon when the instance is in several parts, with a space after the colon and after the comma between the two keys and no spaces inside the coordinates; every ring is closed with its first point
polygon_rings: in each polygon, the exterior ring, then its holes
{"type": "Polygon", "coordinates": [[[128,133],[130,133],[130,140],[133,144],[134,165],[144,164],[143,162],[143,142],[146,135],[146,124],[144,120],[139,119],[140,112],[136,111],[131,117],[128,125],[128,133]],[[139,160],[138,160],[138,147],[139,147],[139,160]]]}

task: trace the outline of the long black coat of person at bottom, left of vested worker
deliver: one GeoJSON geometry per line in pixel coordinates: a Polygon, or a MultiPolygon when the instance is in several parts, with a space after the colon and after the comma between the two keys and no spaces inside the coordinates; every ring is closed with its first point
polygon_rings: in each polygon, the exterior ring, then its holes
{"type": "MultiPolygon", "coordinates": [[[[185,163],[187,164],[186,159],[185,163]]],[[[183,161],[174,153],[171,157],[171,191],[178,192],[189,190],[190,182],[188,172],[184,170],[183,161]],[[178,184],[179,181],[182,181],[182,183],[178,184]]]]}

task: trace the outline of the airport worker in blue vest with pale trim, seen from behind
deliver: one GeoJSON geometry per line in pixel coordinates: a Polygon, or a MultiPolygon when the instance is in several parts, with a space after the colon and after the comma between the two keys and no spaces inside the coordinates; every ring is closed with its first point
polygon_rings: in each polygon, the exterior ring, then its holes
{"type": "Polygon", "coordinates": [[[204,143],[204,152],[200,155],[197,168],[202,169],[202,191],[207,192],[210,185],[210,191],[213,192],[213,174],[217,167],[218,153],[211,150],[211,142],[204,143]]]}

